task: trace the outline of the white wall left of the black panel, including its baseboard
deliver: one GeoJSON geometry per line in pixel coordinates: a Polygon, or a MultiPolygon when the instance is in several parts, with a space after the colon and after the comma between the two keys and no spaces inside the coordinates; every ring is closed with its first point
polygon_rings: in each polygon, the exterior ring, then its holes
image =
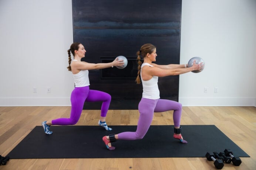
{"type": "Polygon", "coordinates": [[[0,1],[0,105],[70,105],[71,2],[0,1]]]}

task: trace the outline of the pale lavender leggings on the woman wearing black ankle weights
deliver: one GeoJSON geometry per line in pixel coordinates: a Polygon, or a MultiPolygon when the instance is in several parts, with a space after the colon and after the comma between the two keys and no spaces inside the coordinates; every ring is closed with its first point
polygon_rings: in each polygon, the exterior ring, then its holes
{"type": "Polygon", "coordinates": [[[136,132],[118,133],[118,139],[137,140],[142,139],[149,129],[154,112],[165,112],[174,110],[174,126],[179,127],[181,121],[182,105],[176,101],[142,98],[139,102],[139,121],[136,132]]]}

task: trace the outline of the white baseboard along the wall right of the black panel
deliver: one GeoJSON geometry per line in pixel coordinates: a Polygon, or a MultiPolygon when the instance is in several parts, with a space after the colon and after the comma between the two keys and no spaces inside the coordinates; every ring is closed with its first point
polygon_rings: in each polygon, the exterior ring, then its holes
{"type": "Polygon", "coordinates": [[[256,106],[256,98],[185,98],[180,97],[182,106],[256,106]]]}

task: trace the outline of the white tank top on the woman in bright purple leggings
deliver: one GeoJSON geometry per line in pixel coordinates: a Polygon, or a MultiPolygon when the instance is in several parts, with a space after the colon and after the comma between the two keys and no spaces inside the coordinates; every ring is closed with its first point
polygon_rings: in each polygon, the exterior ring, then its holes
{"type": "MultiPolygon", "coordinates": [[[[77,60],[73,60],[77,61],[77,60]]],[[[75,82],[75,87],[85,87],[85,86],[90,86],[90,81],[89,81],[89,71],[88,70],[80,70],[77,74],[73,74],[74,77],[74,82],[75,82]]]]}

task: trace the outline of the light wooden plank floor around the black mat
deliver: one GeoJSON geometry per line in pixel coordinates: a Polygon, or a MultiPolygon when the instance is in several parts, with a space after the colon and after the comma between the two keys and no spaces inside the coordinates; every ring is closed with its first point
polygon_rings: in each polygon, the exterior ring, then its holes
{"type": "MultiPolygon", "coordinates": [[[[0,107],[0,155],[7,156],[42,121],[69,115],[70,107],[0,107]]],[[[107,123],[110,127],[137,125],[138,115],[138,110],[109,110],[107,123]]],[[[99,116],[99,110],[83,110],[77,125],[97,125],[99,116]]],[[[172,111],[155,113],[152,125],[173,125],[172,111]]],[[[216,125],[250,155],[241,158],[240,166],[225,164],[223,169],[256,169],[256,107],[183,107],[181,125],[216,125]]],[[[209,170],[215,167],[206,158],[10,159],[0,169],[209,170]]]]}

